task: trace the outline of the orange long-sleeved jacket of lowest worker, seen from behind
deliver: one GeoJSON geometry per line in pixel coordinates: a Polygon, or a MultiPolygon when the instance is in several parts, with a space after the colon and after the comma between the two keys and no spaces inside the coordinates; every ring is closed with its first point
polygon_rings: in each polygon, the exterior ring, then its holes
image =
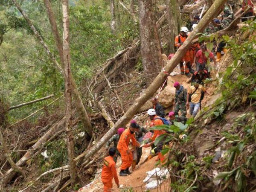
{"type": "Polygon", "coordinates": [[[116,163],[113,160],[113,157],[108,156],[103,160],[103,168],[102,168],[102,182],[112,183],[112,179],[115,179],[116,184],[119,184],[119,180],[116,174],[116,163]]]}

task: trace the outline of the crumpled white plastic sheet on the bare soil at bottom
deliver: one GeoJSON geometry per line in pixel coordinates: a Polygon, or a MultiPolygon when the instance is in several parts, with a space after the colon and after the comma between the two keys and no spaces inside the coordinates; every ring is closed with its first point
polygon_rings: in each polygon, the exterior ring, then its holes
{"type": "Polygon", "coordinates": [[[159,184],[163,182],[165,178],[169,176],[168,170],[160,169],[159,167],[147,172],[147,176],[143,180],[146,183],[146,189],[154,189],[157,188],[159,184]]]}

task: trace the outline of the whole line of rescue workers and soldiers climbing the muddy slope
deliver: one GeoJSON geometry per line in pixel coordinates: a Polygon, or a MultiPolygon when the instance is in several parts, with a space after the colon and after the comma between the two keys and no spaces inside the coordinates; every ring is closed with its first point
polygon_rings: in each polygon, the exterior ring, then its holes
{"type": "MultiPolygon", "coordinates": [[[[245,17],[250,17],[253,15],[253,3],[251,0],[243,0],[241,10],[244,11],[249,6],[249,12],[245,17]]],[[[214,33],[218,30],[224,29],[230,25],[233,21],[234,15],[232,9],[227,5],[224,7],[223,14],[218,18],[212,20],[209,26],[205,29],[205,33],[214,33]]],[[[191,22],[191,31],[195,29],[198,22],[200,21],[198,15],[194,15],[191,22]]],[[[246,19],[242,19],[244,21],[246,19]]],[[[177,49],[182,46],[189,35],[189,29],[187,27],[181,27],[180,34],[175,38],[175,47],[177,49]]],[[[216,44],[216,43],[215,43],[216,44]]],[[[217,45],[216,45],[217,46],[217,45]]],[[[173,103],[174,111],[170,111],[166,117],[166,113],[163,106],[157,101],[157,98],[152,98],[152,108],[147,111],[148,118],[150,119],[150,127],[160,126],[166,124],[173,125],[174,121],[179,121],[186,123],[187,120],[187,110],[192,117],[195,117],[201,108],[201,101],[204,98],[204,93],[206,93],[206,88],[204,87],[204,80],[210,77],[210,70],[208,69],[207,62],[208,59],[214,62],[220,61],[221,56],[224,55],[226,49],[225,41],[218,43],[216,56],[212,50],[207,49],[206,45],[195,43],[190,49],[185,53],[184,57],[180,61],[180,73],[190,77],[192,85],[186,90],[179,82],[175,82],[173,86],[175,87],[175,100],[173,103]],[[207,54],[206,54],[207,52],[207,54]],[[193,70],[195,67],[195,70],[193,70]],[[179,116],[180,113],[180,116],[179,116]],[[165,119],[166,117],[166,119],[165,119]]],[[[169,55],[169,59],[172,58],[174,54],[169,55]]],[[[165,157],[160,153],[161,150],[168,145],[161,140],[154,145],[154,141],[157,137],[162,134],[166,134],[166,131],[154,129],[151,137],[148,139],[148,143],[141,145],[143,141],[143,134],[148,134],[148,130],[140,126],[136,120],[131,120],[129,128],[119,128],[117,134],[113,135],[106,145],[106,151],[108,151],[109,156],[105,157],[103,160],[102,168],[102,183],[104,184],[104,192],[110,192],[112,188],[112,180],[114,178],[116,185],[119,187],[119,179],[116,173],[116,162],[117,158],[120,156],[122,164],[120,167],[119,176],[128,176],[134,171],[136,165],[140,162],[140,157],[142,156],[142,147],[151,147],[151,154],[148,157],[157,155],[157,160],[161,163],[164,162],[165,157]],[[113,143],[113,147],[110,145],[113,143]],[[131,170],[129,170],[131,167],[131,170]]]]}

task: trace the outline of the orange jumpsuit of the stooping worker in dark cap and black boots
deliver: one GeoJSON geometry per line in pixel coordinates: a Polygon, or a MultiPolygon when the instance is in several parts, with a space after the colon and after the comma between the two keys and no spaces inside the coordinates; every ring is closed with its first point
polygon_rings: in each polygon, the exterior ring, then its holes
{"type": "Polygon", "coordinates": [[[120,170],[125,170],[131,166],[133,156],[132,152],[129,150],[128,145],[130,140],[132,141],[133,145],[137,145],[137,141],[135,139],[135,134],[131,133],[130,129],[125,129],[125,131],[120,136],[119,142],[117,144],[117,150],[121,154],[122,165],[120,170]],[[127,154],[126,151],[130,151],[130,154],[127,154]]]}

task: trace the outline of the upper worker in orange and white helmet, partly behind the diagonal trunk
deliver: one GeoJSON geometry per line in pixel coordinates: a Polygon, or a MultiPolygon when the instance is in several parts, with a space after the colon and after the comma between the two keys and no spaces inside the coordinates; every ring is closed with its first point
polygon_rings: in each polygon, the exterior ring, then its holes
{"type": "MultiPolygon", "coordinates": [[[[186,41],[186,38],[188,37],[187,33],[189,32],[189,29],[186,27],[181,27],[180,34],[175,37],[175,47],[177,49],[186,41]]],[[[180,61],[180,74],[185,74],[186,76],[189,75],[189,62],[190,62],[190,54],[189,50],[186,51],[184,57],[180,61]],[[185,65],[183,65],[183,62],[185,65]]]]}

